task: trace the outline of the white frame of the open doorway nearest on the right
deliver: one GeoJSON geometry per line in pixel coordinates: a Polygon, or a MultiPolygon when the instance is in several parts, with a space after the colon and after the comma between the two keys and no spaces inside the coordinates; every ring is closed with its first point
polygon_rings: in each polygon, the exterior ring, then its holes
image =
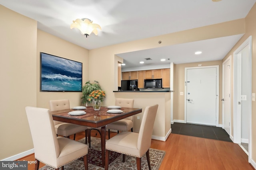
{"type": "MultiPolygon", "coordinates": [[[[240,51],[249,45],[249,84],[250,84],[250,94],[252,94],[252,36],[250,35],[243,43],[240,45],[233,53],[234,55],[234,100],[233,100],[233,142],[241,143],[241,105],[238,102],[241,102],[241,54],[240,51]]],[[[250,106],[249,119],[252,120],[252,104],[250,106]]],[[[248,143],[248,161],[252,162],[252,121],[250,121],[250,132],[249,132],[249,143],[248,143]]]]}

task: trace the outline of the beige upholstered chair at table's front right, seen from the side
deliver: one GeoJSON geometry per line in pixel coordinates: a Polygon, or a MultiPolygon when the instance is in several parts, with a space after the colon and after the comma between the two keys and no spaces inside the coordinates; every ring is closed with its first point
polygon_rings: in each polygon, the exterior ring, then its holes
{"type": "Polygon", "coordinates": [[[145,108],[139,133],[126,131],[106,141],[105,170],[108,170],[110,150],[123,154],[123,162],[126,154],[135,156],[138,170],[141,170],[141,157],[146,153],[148,168],[151,170],[149,148],[157,109],[158,104],[145,108]]]}

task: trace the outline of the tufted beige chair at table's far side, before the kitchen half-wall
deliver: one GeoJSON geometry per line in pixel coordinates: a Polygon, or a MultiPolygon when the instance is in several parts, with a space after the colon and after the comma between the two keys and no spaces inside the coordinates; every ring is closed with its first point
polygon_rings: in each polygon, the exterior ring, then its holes
{"type": "MultiPolygon", "coordinates": [[[[134,99],[122,99],[116,98],[116,105],[121,107],[130,107],[134,105],[134,99]]],[[[108,139],[110,139],[110,129],[119,131],[133,131],[133,116],[127,117],[125,119],[110,123],[107,125],[108,129],[108,139]]]]}

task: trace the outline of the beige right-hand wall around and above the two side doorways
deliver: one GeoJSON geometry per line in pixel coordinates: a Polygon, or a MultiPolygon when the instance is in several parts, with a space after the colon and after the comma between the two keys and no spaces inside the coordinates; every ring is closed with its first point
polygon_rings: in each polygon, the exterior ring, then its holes
{"type": "MultiPolygon", "coordinates": [[[[231,49],[231,51],[225,56],[225,58],[222,61],[225,61],[230,55],[232,56],[231,62],[233,63],[233,53],[236,51],[236,49],[242,45],[242,43],[250,36],[252,35],[252,93],[256,93],[256,67],[254,64],[256,64],[256,4],[252,7],[250,12],[245,18],[246,22],[246,33],[244,36],[236,43],[236,45],[231,49]]],[[[233,75],[233,65],[231,68],[231,75],[233,75]]],[[[231,76],[231,81],[233,82],[233,77],[231,76]]],[[[231,84],[231,117],[233,120],[233,84],[231,84]]],[[[256,102],[252,102],[252,160],[256,162],[256,102]]],[[[232,135],[233,133],[233,123],[231,127],[232,135]]]]}

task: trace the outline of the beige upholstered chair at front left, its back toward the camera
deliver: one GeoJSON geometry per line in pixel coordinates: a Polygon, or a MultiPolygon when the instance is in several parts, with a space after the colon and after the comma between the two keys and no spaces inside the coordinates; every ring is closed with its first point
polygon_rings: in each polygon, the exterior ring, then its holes
{"type": "Polygon", "coordinates": [[[25,109],[34,144],[35,170],[38,170],[39,162],[55,169],[62,167],[63,170],[65,164],[82,156],[84,168],[88,170],[87,145],[66,137],[57,137],[49,109],[30,106],[25,109]]]}

